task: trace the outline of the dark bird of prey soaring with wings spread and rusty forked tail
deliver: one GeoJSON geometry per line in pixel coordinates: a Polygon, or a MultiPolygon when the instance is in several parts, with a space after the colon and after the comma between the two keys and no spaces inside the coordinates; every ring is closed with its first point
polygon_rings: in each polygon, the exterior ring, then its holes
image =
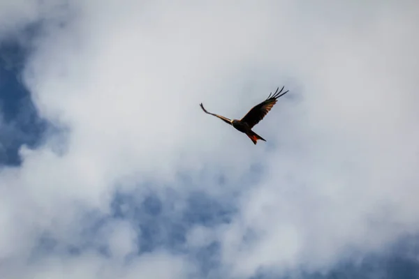
{"type": "Polygon", "coordinates": [[[256,134],[251,130],[253,126],[255,126],[257,123],[259,123],[260,120],[265,117],[265,115],[272,109],[272,107],[277,103],[277,99],[283,95],[285,95],[287,91],[281,94],[282,90],[284,90],[284,86],[282,87],[281,91],[278,91],[279,87],[277,88],[277,91],[272,95],[272,92],[269,94],[266,100],[264,100],[262,103],[255,105],[254,107],[247,112],[245,116],[243,116],[242,119],[228,119],[227,117],[221,116],[219,114],[213,114],[211,112],[207,112],[205,110],[203,103],[200,103],[200,107],[203,109],[203,111],[207,114],[211,114],[213,116],[218,117],[222,121],[232,125],[236,130],[240,130],[240,132],[246,134],[250,140],[253,142],[253,144],[256,144],[258,140],[263,140],[266,142],[263,137],[260,137],[260,135],[256,134]]]}

